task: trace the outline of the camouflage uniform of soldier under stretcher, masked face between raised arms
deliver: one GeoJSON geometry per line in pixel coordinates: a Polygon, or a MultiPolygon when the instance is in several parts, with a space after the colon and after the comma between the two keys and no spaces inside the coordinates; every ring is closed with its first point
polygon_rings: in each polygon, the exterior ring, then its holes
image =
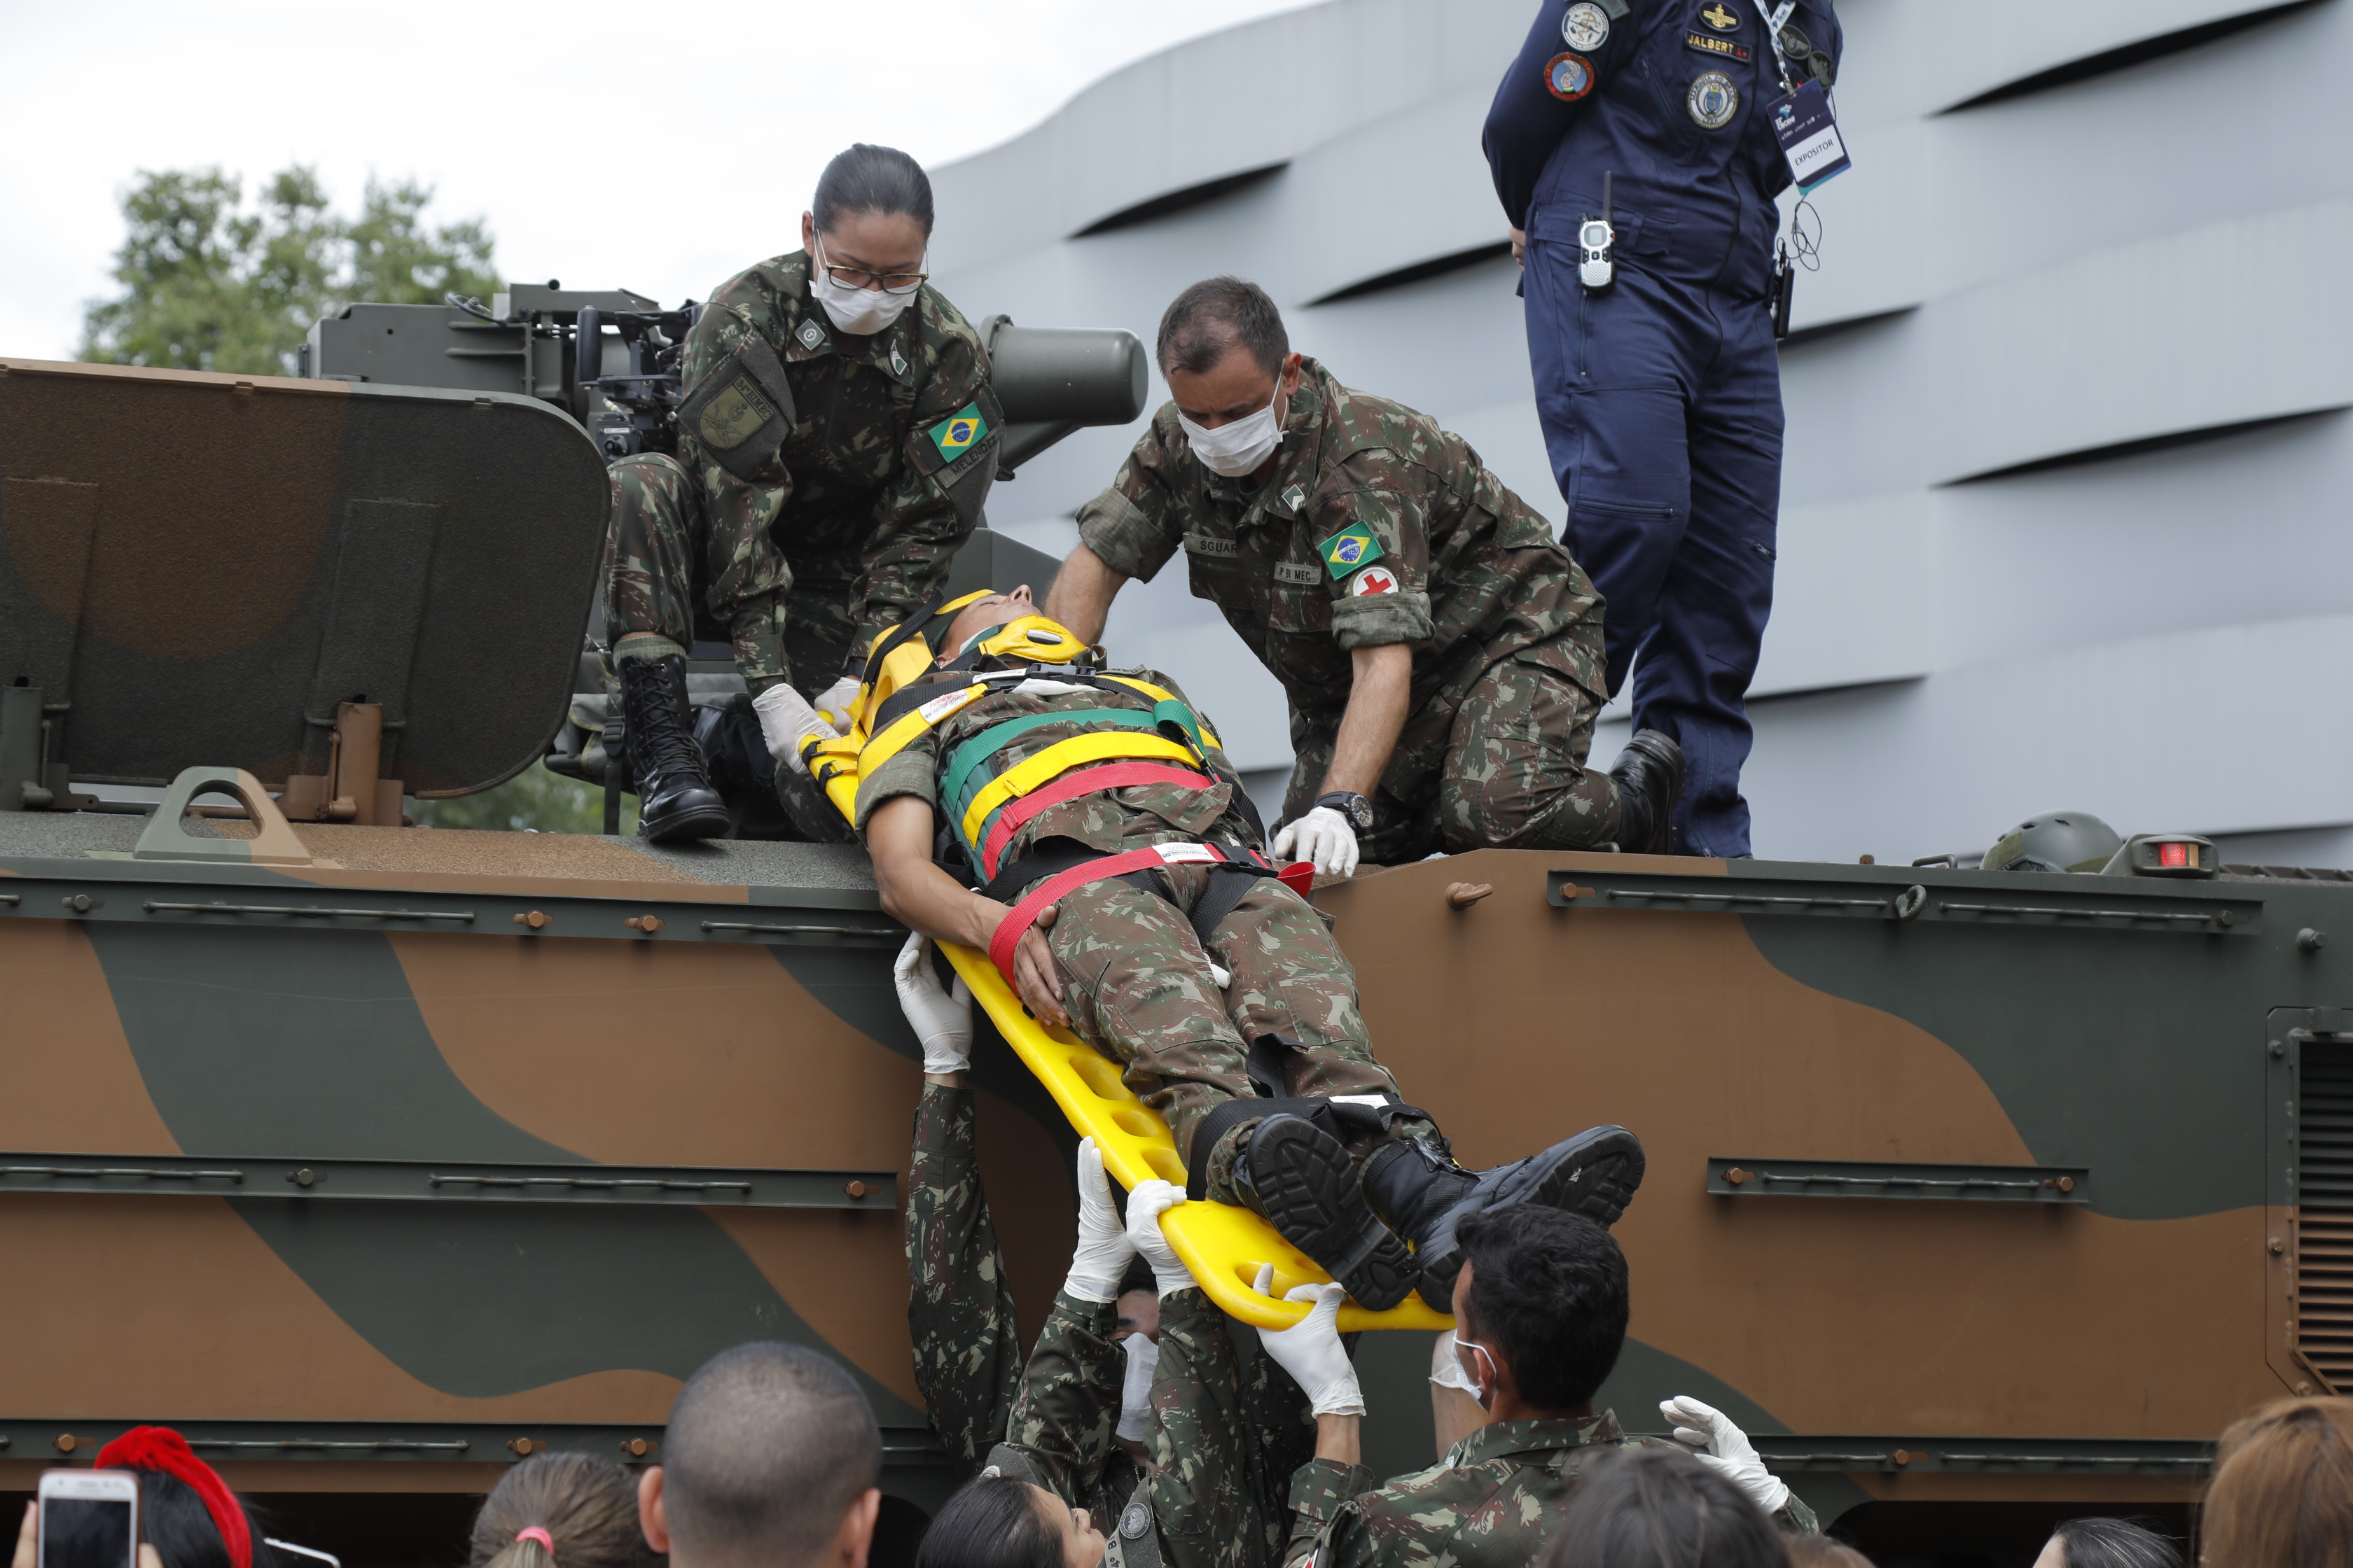
{"type": "Polygon", "coordinates": [[[1108,1519],[1104,1533],[1120,1561],[1134,1561],[1129,1542],[1151,1530],[1158,1559],[1172,1568],[1275,1568],[1287,1476],[1315,1450],[1306,1399],[1273,1356],[1242,1368],[1226,1314],[1207,1295],[1172,1291],[1160,1298],[1146,1488],[1136,1493],[1132,1469],[1113,1483],[1104,1460],[1118,1455],[1111,1432],[1125,1371],[1111,1342],[1113,1319],[1111,1305],[1054,1298],[1021,1375],[1007,1443],[1040,1486],[1099,1523],[1108,1519]]]}

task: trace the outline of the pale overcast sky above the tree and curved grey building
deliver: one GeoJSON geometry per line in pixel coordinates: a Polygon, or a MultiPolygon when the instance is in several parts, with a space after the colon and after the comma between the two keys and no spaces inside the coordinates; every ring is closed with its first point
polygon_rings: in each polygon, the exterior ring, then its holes
{"type": "Polygon", "coordinates": [[[139,169],[369,174],[480,216],[508,280],[704,296],[798,244],[826,158],[939,165],[1299,0],[0,0],[0,355],[73,355],[139,169]]]}

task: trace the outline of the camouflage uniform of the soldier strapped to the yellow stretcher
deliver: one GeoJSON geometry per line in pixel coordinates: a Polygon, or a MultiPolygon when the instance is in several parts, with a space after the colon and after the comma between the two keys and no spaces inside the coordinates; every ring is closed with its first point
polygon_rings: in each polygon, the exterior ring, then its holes
{"type": "MultiPolygon", "coordinates": [[[[1165,675],[1136,675],[1176,691],[1165,675]]],[[[984,696],[859,780],[859,827],[866,827],[878,804],[896,795],[915,795],[939,813],[941,759],[984,729],[1014,717],[1073,710],[1071,724],[1042,724],[1014,738],[1000,752],[1002,766],[1014,766],[1085,731],[1082,710],[1151,705],[1144,696],[1096,689],[984,696]]],[[[1212,762],[1231,773],[1214,748],[1212,762]]],[[[1233,785],[1134,785],[1047,806],[1012,837],[1000,865],[1012,865],[1045,839],[1078,839],[1113,853],[1202,839],[1254,846],[1257,830],[1233,806],[1233,785]]],[[[1306,900],[1271,877],[1252,884],[1212,931],[1214,957],[1233,973],[1233,983],[1219,992],[1209,978],[1212,954],[1202,954],[1186,919],[1207,889],[1209,872],[1200,865],[1169,865],[1139,875],[1160,879],[1174,903],[1125,879],[1089,882],[1061,898],[1061,914],[1047,929],[1047,940],[1066,978],[1064,1006],[1078,1037],[1127,1067],[1127,1086],[1167,1119],[1186,1159],[1202,1117],[1226,1100],[1257,1093],[1245,1072],[1245,1041],[1259,1034],[1299,1041],[1301,1048],[1285,1067],[1289,1095],[1395,1093],[1388,1070],[1372,1058],[1355,1004],[1355,969],[1306,900]]],[[[1254,1126],[1257,1121],[1242,1121],[1219,1138],[1207,1168],[1212,1197],[1240,1201],[1233,1159],[1254,1126]]],[[[1426,1124],[1405,1119],[1391,1133],[1358,1133],[1353,1152],[1362,1157],[1386,1138],[1419,1128],[1426,1124]]]]}

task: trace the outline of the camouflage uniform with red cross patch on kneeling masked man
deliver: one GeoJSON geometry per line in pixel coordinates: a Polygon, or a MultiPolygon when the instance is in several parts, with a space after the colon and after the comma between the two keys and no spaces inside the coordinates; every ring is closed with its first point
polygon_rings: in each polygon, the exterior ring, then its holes
{"type": "Polygon", "coordinates": [[[1167,404],[1078,531],[1144,581],[1181,545],[1195,597],[1282,682],[1299,752],[1287,820],[1332,764],[1351,649],[1409,642],[1412,708],[1372,792],[1367,860],[1617,837],[1617,785],[1584,766],[1607,698],[1600,597],[1551,524],[1433,418],[1306,360],[1271,480],[1209,473],[1167,404]]]}

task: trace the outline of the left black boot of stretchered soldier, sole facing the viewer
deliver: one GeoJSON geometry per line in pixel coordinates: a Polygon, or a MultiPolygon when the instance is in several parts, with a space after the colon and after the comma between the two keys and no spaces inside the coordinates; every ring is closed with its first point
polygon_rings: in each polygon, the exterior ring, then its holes
{"type": "Polygon", "coordinates": [[[1233,1161],[1233,1180],[1252,1208],[1346,1286],[1360,1307],[1386,1312],[1414,1288],[1414,1258],[1365,1206],[1348,1145],[1306,1117],[1259,1121],[1233,1161]]]}

